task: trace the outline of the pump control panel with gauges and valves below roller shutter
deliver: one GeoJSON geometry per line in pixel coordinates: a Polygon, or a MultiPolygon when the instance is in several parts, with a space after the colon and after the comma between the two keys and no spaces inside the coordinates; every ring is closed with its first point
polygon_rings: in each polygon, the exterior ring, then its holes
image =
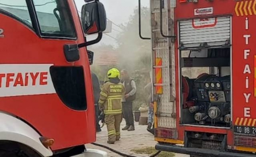
{"type": "Polygon", "coordinates": [[[196,79],[182,76],[183,110],[187,123],[230,125],[230,75],[201,74],[196,79]],[[185,111],[187,112],[187,111],[185,111]],[[194,115],[194,122],[191,119],[194,115]],[[191,119],[191,120],[190,120],[191,119]]]}

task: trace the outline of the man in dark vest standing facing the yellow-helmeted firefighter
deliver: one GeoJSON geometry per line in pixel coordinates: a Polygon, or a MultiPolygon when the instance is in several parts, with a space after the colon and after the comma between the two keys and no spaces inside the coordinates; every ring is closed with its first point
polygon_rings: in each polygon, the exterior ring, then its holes
{"type": "Polygon", "coordinates": [[[135,81],[130,78],[126,70],[121,71],[121,78],[121,83],[123,83],[125,87],[125,95],[122,99],[122,109],[123,117],[126,122],[126,126],[122,130],[133,131],[135,130],[135,127],[132,113],[132,101],[136,98],[136,84],[135,81]]]}

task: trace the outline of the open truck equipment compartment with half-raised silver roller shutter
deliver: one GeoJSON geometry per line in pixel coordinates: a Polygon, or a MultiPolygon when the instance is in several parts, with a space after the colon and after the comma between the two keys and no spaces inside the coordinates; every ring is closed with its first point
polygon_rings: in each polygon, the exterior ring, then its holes
{"type": "Polygon", "coordinates": [[[230,128],[231,17],[179,21],[183,125],[230,128]]]}

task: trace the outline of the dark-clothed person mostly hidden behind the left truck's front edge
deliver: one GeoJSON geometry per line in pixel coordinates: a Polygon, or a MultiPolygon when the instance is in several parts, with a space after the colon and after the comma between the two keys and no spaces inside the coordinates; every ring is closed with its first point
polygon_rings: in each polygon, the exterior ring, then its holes
{"type": "Polygon", "coordinates": [[[96,120],[96,132],[101,132],[100,125],[97,123],[99,115],[98,101],[100,99],[100,82],[96,74],[91,72],[92,84],[93,84],[93,95],[94,95],[94,107],[95,107],[95,120],[96,120]]]}

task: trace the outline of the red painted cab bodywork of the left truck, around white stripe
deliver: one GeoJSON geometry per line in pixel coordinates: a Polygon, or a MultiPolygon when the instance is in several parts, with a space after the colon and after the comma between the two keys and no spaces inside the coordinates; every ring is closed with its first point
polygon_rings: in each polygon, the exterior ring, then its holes
{"type": "MultiPolygon", "coordinates": [[[[26,25],[0,14],[0,21],[4,21],[1,23],[1,28],[5,35],[4,38],[0,38],[1,54],[4,54],[0,57],[1,64],[53,64],[54,66],[82,66],[84,69],[86,111],[75,111],[66,107],[56,93],[0,97],[1,111],[23,119],[43,137],[55,140],[52,150],[87,144],[96,140],[93,89],[86,48],[79,49],[80,59],[77,62],[67,62],[63,52],[65,44],[85,42],[74,1],[68,0],[68,3],[76,29],[76,40],[42,39],[26,25]]],[[[47,85],[46,79],[50,77],[49,73],[40,70],[31,72],[34,72],[34,76],[36,72],[39,74],[43,72],[41,76],[43,78],[39,78],[40,75],[38,75],[36,79],[42,79],[41,84],[47,85]]],[[[12,76],[13,74],[9,74],[10,86],[15,82],[15,77],[12,76]]],[[[28,82],[28,85],[30,83],[28,82]]]]}

